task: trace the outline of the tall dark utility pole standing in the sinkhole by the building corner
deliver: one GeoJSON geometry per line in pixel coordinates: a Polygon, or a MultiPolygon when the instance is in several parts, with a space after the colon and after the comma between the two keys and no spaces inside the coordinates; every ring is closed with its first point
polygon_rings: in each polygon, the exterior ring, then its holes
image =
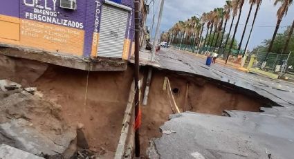
{"type": "MultiPolygon", "coordinates": [[[[138,118],[140,111],[139,103],[139,49],[140,49],[140,1],[135,0],[135,119],[138,118]]],[[[140,157],[140,129],[135,130],[135,153],[140,157]]]]}

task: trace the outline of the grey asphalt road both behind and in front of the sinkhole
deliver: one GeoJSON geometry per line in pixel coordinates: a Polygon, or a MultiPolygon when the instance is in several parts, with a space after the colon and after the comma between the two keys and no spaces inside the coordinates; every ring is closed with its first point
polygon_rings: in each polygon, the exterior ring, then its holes
{"type": "Polygon", "coordinates": [[[163,48],[156,64],[150,65],[246,88],[279,106],[261,108],[261,112],[225,111],[227,116],[172,115],[160,127],[163,136],[151,142],[149,158],[292,158],[294,84],[221,64],[206,66],[205,59],[174,49],[163,48]]]}

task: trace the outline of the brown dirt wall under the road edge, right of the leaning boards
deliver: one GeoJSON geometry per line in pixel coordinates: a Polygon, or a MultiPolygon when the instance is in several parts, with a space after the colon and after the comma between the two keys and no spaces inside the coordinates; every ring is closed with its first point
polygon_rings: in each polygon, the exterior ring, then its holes
{"type": "Polygon", "coordinates": [[[188,84],[187,111],[221,115],[224,110],[259,111],[265,106],[264,100],[252,100],[252,97],[241,94],[230,86],[199,77],[181,77],[167,75],[172,88],[178,88],[174,94],[176,103],[183,108],[185,104],[186,84],[188,84]]]}

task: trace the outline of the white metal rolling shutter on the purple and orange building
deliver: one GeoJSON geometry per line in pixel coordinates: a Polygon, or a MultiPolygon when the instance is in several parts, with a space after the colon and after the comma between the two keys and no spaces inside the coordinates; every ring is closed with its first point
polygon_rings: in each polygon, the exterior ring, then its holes
{"type": "Polygon", "coordinates": [[[104,4],[98,42],[98,57],[122,58],[129,12],[104,4]]]}

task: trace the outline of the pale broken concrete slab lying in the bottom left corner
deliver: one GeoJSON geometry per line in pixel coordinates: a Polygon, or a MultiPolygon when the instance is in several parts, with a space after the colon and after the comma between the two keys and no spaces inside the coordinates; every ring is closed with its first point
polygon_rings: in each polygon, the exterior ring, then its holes
{"type": "Polygon", "coordinates": [[[12,120],[0,124],[0,133],[9,140],[6,142],[38,156],[42,154],[54,156],[57,153],[63,153],[75,138],[75,134],[66,133],[59,140],[51,139],[29,125],[26,120],[12,120]]]}

